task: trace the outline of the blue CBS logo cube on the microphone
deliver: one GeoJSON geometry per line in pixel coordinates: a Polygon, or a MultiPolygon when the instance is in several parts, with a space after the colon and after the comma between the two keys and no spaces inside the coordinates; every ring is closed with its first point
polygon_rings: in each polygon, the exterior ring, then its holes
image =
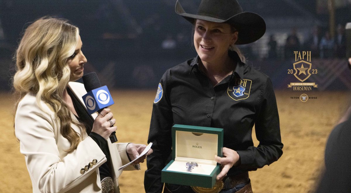
{"type": "Polygon", "coordinates": [[[93,89],[92,91],[85,94],[82,98],[89,114],[93,114],[99,109],[114,104],[114,101],[111,97],[110,91],[108,91],[107,89],[107,86],[102,86],[93,89]]]}

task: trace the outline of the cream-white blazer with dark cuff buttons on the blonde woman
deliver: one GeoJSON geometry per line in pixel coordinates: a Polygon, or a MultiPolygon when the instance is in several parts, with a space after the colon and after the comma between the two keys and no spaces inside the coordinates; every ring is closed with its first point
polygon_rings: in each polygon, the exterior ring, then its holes
{"type": "MultiPolygon", "coordinates": [[[[84,85],[69,82],[68,86],[84,106],[81,98],[86,94],[84,85]]],[[[28,93],[19,102],[15,115],[15,135],[20,142],[20,152],[25,155],[33,192],[101,192],[98,167],[106,162],[105,154],[86,132],[81,133],[73,124],[72,128],[84,135],[85,139],[73,152],[65,152],[71,144],[61,135],[60,120],[43,101],[40,101],[40,104],[42,109],[35,95],[28,93]],[[80,170],[94,159],[97,160],[97,164],[81,174],[80,170]]],[[[96,116],[97,113],[92,115],[94,119],[96,116]]],[[[77,120],[73,113],[71,117],[77,120]]],[[[112,144],[108,139],[111,173],[116,188],[118,177],[122,173],[116,168],[129,162],[127,145],[128,143],[112,144]]],[[[125,170],[135,170],[135,167],[128,166],[125,170]]]]}

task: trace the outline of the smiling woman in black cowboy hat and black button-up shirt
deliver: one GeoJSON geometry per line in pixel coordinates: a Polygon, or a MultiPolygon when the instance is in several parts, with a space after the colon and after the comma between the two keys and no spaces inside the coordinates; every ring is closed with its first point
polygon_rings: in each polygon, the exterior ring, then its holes
{"type": "MultiPolygon", "coordinates": [[[[235,44],[249,44],[265,33],[257,14],[243,12],[236,0],[202,0],[197,14],[177,14],[194,25],[196,58],[168,69],[154,100],[148,142],[145,191],[161,192],[161,169],[170,161],[174,124],[224,129],[223,158],[217,180],[222,192],[252,191],[248,171],[277,161],[282,155],[276,99],[269,77],[245,64],[235,44]],[[253,146],[255,125],[258,147],[253,146]]],[[[166,184],[165,192],[193,192],[166,184]]]]}

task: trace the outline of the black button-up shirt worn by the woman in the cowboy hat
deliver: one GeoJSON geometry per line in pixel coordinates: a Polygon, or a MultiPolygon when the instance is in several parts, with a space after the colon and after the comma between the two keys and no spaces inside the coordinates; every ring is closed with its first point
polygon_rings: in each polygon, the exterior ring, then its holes
{"type": "Polygon", "coordinates": [[[145,191],[161,192],[161,170],[171,160],[171,127],[174,124],[224,129],[224,147],[238,152],[241,160],[228,175],[269,165],[283,154],[276,98],[269,77],[240,61],[232,75],[213,87],[200,71],[200,58],[168,69],[160,80],[153,104],[148,143],[145,191]],[[255,125],[258,147],[253,146],[255,125]]]}

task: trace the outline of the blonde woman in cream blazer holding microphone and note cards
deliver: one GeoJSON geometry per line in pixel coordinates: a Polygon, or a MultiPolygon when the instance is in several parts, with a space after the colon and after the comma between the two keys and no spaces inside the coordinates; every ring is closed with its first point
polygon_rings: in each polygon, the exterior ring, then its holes
{"type": "Polygon", "coordinates": [[[44,17],[27,27],[17,49],[14,127],[33,192],[119,192],[117,168],[146,147],[112,144],[108,137],[117,127],[110,109],[85,110],[84,85],[72,82],[87,62],[81,47],[77,27],[44,17]]]}

